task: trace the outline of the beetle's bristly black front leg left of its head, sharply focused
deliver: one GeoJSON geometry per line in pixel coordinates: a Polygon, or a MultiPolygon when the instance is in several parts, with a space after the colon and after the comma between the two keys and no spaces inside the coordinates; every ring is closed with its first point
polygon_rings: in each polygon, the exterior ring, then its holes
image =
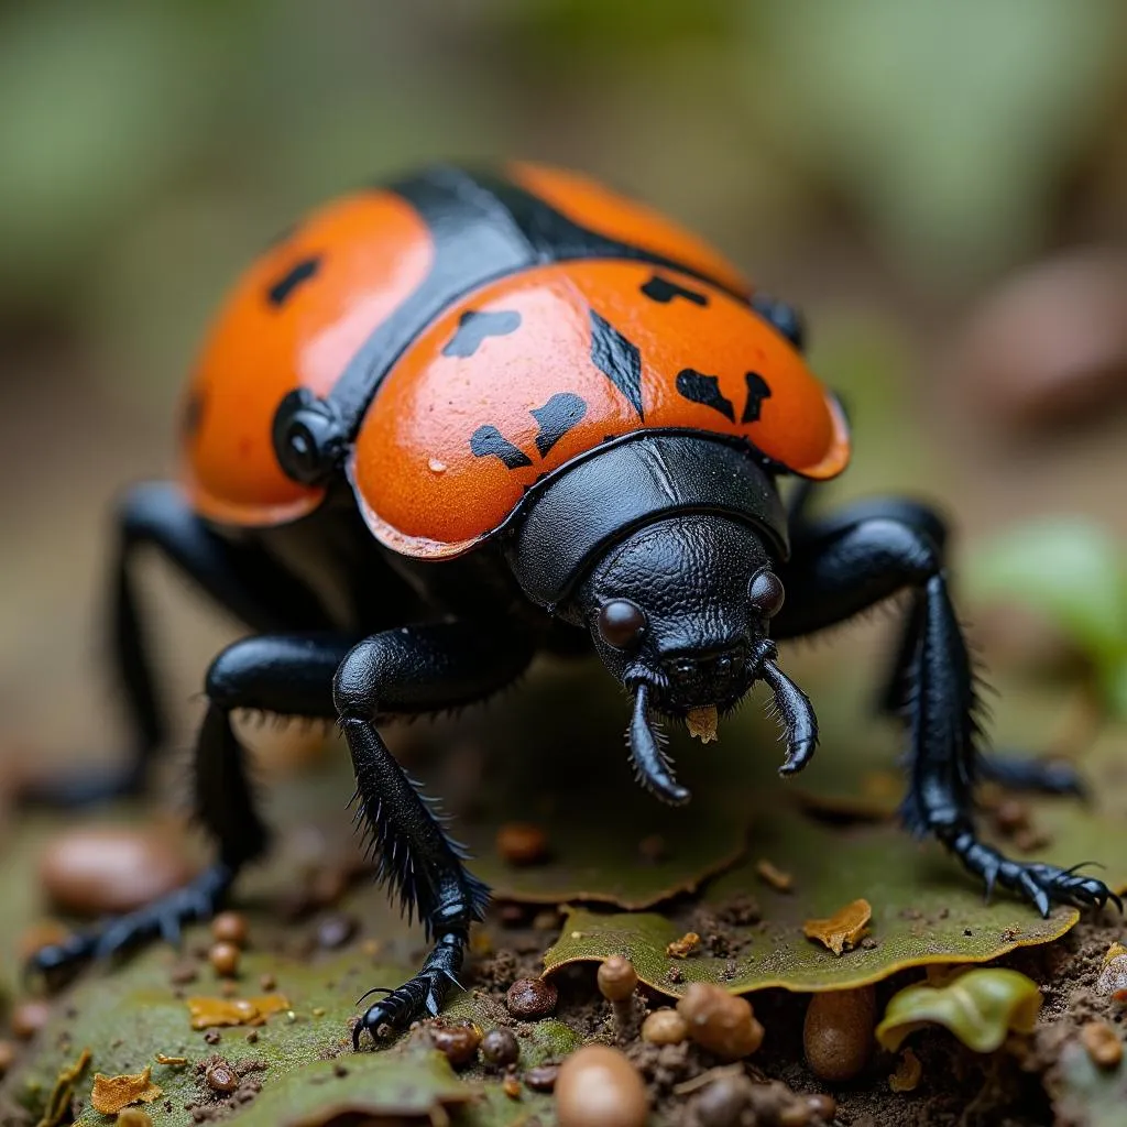
{"type": "Polygon", "coordinates": [[[464,850],[434,804],[396,762],[378,716],[453,708],[509,684],[532,657],[532,639],[500,623],[447,622],[389,630],[361,642],[336,681],[336,702],[356,770],[357,818],[379,858],[379,873],[408,915],[418,913],[434,943],[419,973],[369,1008],[354,1031],[399,1030],[437,1013],[462,965],[470,924],[489,890],[467,871],[464,850]]]}

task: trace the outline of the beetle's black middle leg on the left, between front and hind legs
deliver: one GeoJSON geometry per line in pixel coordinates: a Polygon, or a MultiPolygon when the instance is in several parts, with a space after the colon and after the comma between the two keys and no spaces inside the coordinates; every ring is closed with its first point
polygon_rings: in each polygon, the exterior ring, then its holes
{"type": "Polygon", "coordinates": [[[215,911],[239,869],[263,853],[268,840],[255,809],[246,752],[231,728],[231,712],[258,709],[334,718],[332,677],[354,642],[354,637],[341,635],[267,635],[238,641],[220,654],[207,673],[207,712],[196,743],[193,780],[196,817],[215,840],[218,860],[184,888],[43,948],[34,967],[59,970],[154,935],[176,942],[181,924],[215,911]]]}

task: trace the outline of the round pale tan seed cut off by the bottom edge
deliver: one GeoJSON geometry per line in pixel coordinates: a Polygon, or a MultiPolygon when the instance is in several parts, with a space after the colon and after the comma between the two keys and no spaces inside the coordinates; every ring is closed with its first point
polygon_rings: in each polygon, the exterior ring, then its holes
{"type": "Polygon", "coordinates": [[[624,1053],[588,1045],[560,1065],[559,1127],[644,1127],[648,1111],[646,1085],[624,1053]]]}

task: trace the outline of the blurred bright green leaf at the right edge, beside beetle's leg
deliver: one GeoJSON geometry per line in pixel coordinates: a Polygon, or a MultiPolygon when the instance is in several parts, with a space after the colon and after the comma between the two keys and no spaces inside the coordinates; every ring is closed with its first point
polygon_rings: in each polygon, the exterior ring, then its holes
{"type": "Polygon", "coordinates": [[[1020,525],[973,552],[965,569],[978,602],[1047,615],[1097,665],[1127,650],[1125,558],[1115,538],[1080,517],[1020,525]]]}

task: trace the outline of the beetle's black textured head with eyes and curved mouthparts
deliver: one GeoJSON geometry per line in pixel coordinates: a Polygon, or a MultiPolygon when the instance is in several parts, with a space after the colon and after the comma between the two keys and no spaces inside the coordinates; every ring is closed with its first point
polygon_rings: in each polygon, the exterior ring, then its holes
{"type": "Polygon", "coordinates": [[[614,543],[575,593],[573,616],[591,630],[606,668],[635,698],[635,766],[658,797],[683,802],[651,712],[712,738],[757,680],[775,693],[789,727],[784,771],[816,742],[809,702],[775,665],[771,620],[783,587],[760,532],[728,516],[678,514],[614,543]]]}

